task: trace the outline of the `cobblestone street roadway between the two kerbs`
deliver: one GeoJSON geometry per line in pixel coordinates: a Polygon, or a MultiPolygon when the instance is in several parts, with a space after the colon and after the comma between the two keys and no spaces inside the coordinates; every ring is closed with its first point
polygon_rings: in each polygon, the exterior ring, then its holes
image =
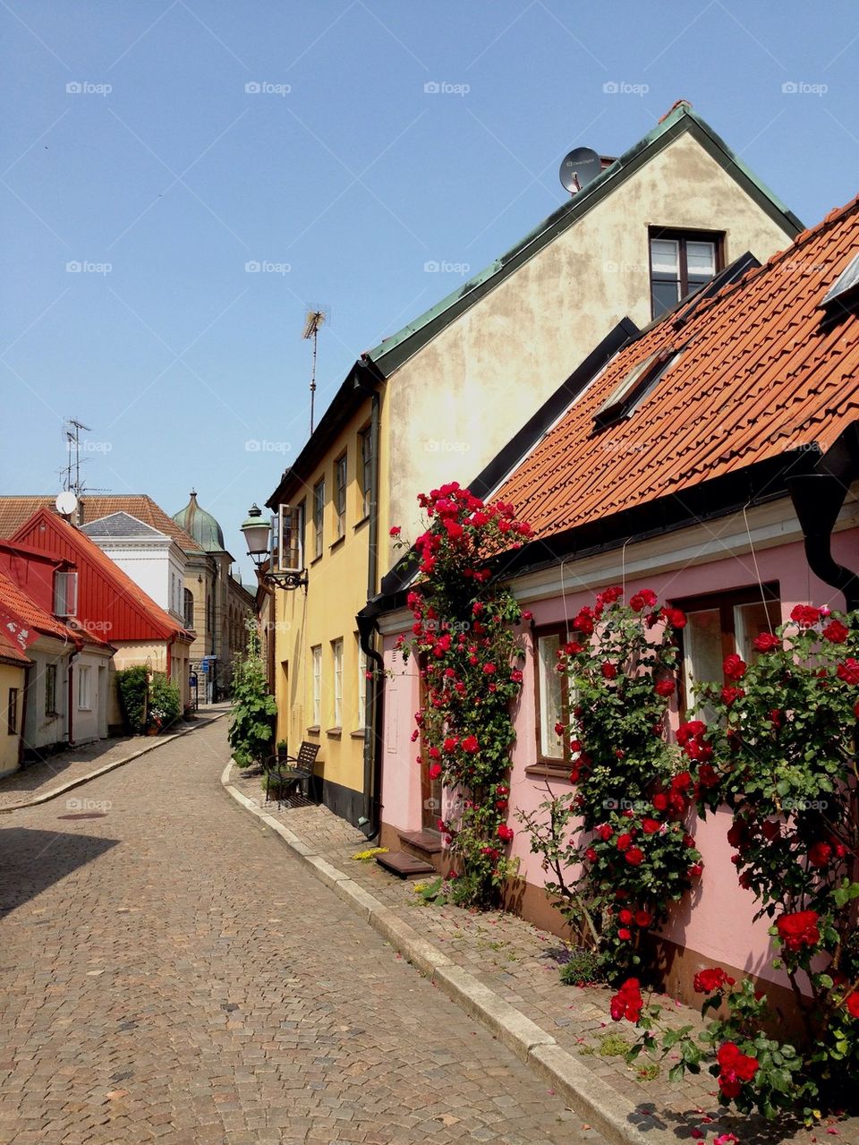
{"type": "Polygon", "coordinates": [[[596,1142],[223,792],[226,721],[0,820],[0,1142],[596,1142]]]}

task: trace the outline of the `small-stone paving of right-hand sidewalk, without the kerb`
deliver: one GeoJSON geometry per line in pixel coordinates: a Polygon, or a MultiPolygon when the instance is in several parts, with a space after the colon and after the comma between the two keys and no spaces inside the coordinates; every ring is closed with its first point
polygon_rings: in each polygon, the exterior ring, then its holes
{"type": "MultiPolygon", "coordinates": [[[[233,767],[231,781],[248,798],[259,799],[263,806],[260,780],[242,775],[233,767]]],[[[500,911],[469,913],[456,907],[424,906],[415,894],[414,882],[401,881],[387,874],[376,862],[353,860],[371,844],[364,835],[325,807],[284,806],[265,807],[289,830],[324,854],[342,871],[384,902],[404,921],[432,941],[458,965],[468,970],[479,981],[490,986],[535,1021],[555,1040],[579,1056],[595,1074],[621,1092],[630,1105],[638,1103],[669,1127],[689,1137],[700,1128],[708,1137],[733,1131],[742,1145],[753,1142],[789,1139],[793,1145],[813,1145],[818,1135],[827,1130],[837,1134],[845,1145],[859,1145],[859,1119],[836,1122],[829,1119],[816,1132],[792,1127],[767,1126],[765,1122],[741,1119],[721,1108],[715,1079],[706,1071],[698,1077],[686,1075],[681,1083],[668,1081],[670,1059],[662,1064],[655,1077],[641,1076],[641,1058],[628,1066],[622,1053],[606,1055],[612,1049],[610,1036],[629,1035],[631,1027],[615,1025],[609,1018],[609,1000],[613,990],[607,987],[565,987],[558,981],[563,943],[551,933],[500,911]],[[703,1119],[713,1119],[703,1120],[703,1119]],[[835,1128],[837,1126],[837,1128],[835,1128]]],[[[700,1014],[670,998],[661,1000],[663,1016],[671,1024],[700,1026],[700,1014]]],[[[827,1138],[828,1139],[828,1138],[827,1138]]]]}

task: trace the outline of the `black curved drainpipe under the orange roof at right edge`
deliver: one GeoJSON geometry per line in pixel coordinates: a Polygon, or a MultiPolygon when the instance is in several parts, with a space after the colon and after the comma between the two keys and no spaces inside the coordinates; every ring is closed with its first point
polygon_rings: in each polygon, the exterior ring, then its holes
{"type": "Polygon", "coordinates": [[[825,584],[844,593],[849,613],[859,608],[859,574],[837,563],[832,554],[832,535],[850,483],[859,475],[857,439],[856,426],[851,426],[818,461],[816,472],[787,480],[809,567],[825,584]]]}

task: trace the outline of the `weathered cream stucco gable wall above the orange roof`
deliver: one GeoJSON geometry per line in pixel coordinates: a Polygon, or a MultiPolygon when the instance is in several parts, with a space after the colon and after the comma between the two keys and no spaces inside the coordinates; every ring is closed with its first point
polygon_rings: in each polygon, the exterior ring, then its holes
{"type": "Polygon", "coordinates": [[[390,376],[404,534],[417,492],[470,481],[621,318],[650,323],[650,227],[723,232],[725,264],[792,238],[691,134],[673,140],[390,376]]]}

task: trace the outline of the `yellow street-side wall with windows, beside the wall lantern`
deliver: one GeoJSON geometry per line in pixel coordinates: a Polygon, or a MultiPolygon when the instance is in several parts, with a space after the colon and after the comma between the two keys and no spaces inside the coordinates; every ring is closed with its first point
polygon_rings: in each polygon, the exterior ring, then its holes
{"type": "MultiPolygon", "coordinates": [[[[384,403],[382,403],[384,405],[384,403]]],[[[295,753],[302,740],[319,744],[317,773],[329,783],[353,791],[364,784],[363,712],[359,704],[358,638],[356,613],[367,599],[368,521],[363,519],[358,479],[360,443],[358,434],[369,425],[371,402],[365,402],[347,428],[327,450],[325,458],[303,489],[291,498],[305,502],[307,592],[276,590],[275,594],[275,697],[278,705],[278,740],[286,740],[295,753]],[[347,455],[345,534],[336,539],[334,508],[334,463],[347,455]],[[313,487],[321,476],[326,482],[323,555],[315,553],[313,487]],[[335,733],[334,649],[343,641],[342,712],[340,733],[335,733]],[[311,649],[321,648],[321,711],[318,731],[313,727],[313,680],[311,649]],[[359,734],[353,734],[359,733],[359,734]]],[[[380,437],[383,435],[380,434],[380,437]]],[[[382,487],[385,483],[382,482],[382,487]]],[[[383,513],[383,516],[385,514],[383,513]]],[[[387,569],[381,569],[381,572],[387,569]]]]}

